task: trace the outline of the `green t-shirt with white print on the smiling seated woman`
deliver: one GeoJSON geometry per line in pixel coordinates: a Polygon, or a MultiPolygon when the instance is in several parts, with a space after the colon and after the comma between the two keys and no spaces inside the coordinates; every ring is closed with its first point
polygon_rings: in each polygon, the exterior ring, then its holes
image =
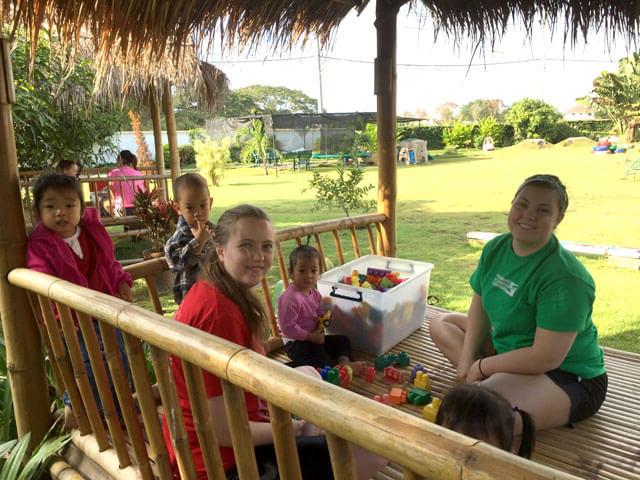
{"type": "Polygon", "coordinates": [[[470,279],[491,322],[496,352],[530,347],[537,327],[578,332],[560,369],[587,379],[603,374],[604,355],[591,319],[595,284],[589,272],[555,235],[524,257],[513,252],[512,240],[507,233],[488,242],[470,279]]]}

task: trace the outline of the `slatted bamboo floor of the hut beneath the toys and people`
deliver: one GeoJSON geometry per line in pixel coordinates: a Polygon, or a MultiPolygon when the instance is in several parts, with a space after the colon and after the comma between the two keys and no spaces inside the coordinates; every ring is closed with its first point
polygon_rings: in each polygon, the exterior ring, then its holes
{"type": "MultiPolygon", "coordinates": [[[[409,353],[411,365],[421,363],[431,378],[433,394],[442,397],[454,383],[454,370],[435,348],[429,336],[429,321],[445,310],[427,307],[424,324],[391,351],[409,353]]],[[[559,427],[538,432],[533,461],[574,474],[584,479],[640,480],[640,355],[614,349],[605,350],[609,374],[607,399],[592,418],[572,427],[559,427]]],[[[288,361],[280,349],[272,354],[288,361]]],[[[357,360],[372,361],[373,357],[358,355],[357,360]]],[[[408,370],[408,369],[407,369],[408,370]]],[[[376,382],[354,379],[350,389],[366,397],[389,391],[381,375],[376,382]]],[[[422,409],[412,405],[400,408],[422,416],[422,409]]],[[[425,420],[426,421],[426,420],[425,420]]],[[[402,470],[387,466],[376,475],[377,480],[401,480],[402,470]]]]}

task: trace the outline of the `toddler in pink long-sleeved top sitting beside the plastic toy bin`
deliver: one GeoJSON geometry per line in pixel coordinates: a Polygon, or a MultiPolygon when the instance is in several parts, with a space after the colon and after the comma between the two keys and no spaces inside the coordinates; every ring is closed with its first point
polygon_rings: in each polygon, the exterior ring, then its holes
{"type": "Polygon", "coordinates": [[[344,335],[325,335],[318,319],[322,296],[316,288],[320,276],[320,252],[310,245],[295,248],[289,256],[292,282],[278,298],[278,325],[292,366],[348,364],[355,373],[364,364],[351,361],[351,344],[344,335]]]}

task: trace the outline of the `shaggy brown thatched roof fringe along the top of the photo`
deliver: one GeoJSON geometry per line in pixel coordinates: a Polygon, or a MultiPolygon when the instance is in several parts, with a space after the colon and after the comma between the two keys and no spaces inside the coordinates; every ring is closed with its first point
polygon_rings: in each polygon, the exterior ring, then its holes
{"type": "MultiPolygon", "coordinates": [[[[401,6],[404,0],[377,0],[401,6]]],[[[353,9],[369,0],[0,0],[0,22],[27,28],[31,35],[44,21],[56,25],[66,40],[92,33],[105,62],[118,49],[136,62],[163,54],[178,55],[193,41],[252,45],[268,39],[286,47],[309,33],[326,42],[353,9]],[[84,29],[84,30],[83,30],[84,29]],[[150,55],[150,57],[149,57],[150,55]]],[[[373,2],[371,2],[373,3],[373,2]]],[[[609,38],[635,40],[640,0],[412,0],[424,6],[436,32],[482,44],[500,36],[511,23],[531,30],[544,18],[568,42],[594,27],[609,38]]],[[[372,5],[373,6],[373,5],[372,5]]],[[[35,37],[34,37],[35,38],[35,37]]]]}

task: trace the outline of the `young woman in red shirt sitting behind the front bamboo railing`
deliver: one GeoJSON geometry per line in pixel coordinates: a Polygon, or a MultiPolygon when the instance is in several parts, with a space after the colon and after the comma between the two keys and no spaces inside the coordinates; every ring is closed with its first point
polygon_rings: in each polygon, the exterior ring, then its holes
{"type": "MultiPolygon", "coordinates": [[[[178,308],[176,321],[264,353],[262,340],[267,330],[267,316],[262,302],[255,296],[252,288],[260,283],[271,268],[275,243],[271,221],[263,210],[252,205],[239,205],[224,212],[218,220],[214,243],[215,248],[211,249],[203,263],[200,279],[178,308]]],[[[182,361],[174,356],[170,358],[196,476],[198,479],[206,479],[207,472],[198,443],[182,361]]],[[[220,379],[204,370],[202,375],[226,478],[237,478],[220,379]]],[[[250,392],[245,392],[244,399],[261,474],[265,469],[277,471],[273,432],[264,405],[250,392]]],[[[177,474],[177,462],[166,418],[163,423],[165,443],[177,474]]],[[[304,426],[304,420],[293,420],[302,478],[333,478],[325,437],[302,435],[304,426]]],[[[384,465],[379,457],[365,451],[356,451],[354,459],[361,479],[370,478],[384,465]]]]}

